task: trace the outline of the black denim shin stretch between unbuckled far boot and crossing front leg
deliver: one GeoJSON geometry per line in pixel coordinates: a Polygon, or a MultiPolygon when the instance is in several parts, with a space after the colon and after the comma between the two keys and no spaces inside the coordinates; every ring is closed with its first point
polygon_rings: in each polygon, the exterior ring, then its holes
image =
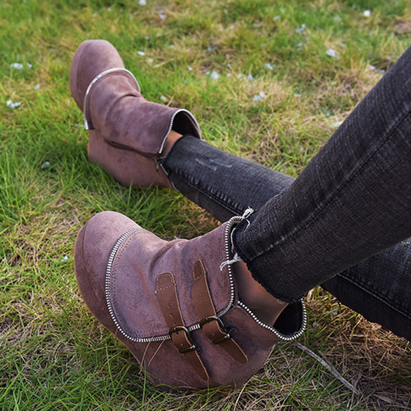
{"type": "Polygon", "coordinates": [[[221,222],[241,215],[247,207],[258,210],[294,182],[288,175],[225,153],[193,136],[177,140],[164,168],[179,192],[221,222]]]}

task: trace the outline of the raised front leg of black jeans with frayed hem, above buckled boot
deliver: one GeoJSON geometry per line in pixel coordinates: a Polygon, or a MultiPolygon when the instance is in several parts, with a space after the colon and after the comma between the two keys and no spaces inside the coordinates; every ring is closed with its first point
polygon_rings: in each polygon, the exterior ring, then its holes
{"type": "Polygon", "coordinates": [[[249,220],[234,247],[285,301],[411,235],[411,48],[249,220]]]}

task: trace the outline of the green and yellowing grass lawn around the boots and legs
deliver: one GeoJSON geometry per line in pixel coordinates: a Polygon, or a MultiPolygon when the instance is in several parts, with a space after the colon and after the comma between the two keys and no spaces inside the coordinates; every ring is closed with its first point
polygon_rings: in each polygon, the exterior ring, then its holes
{"type": "Polygon", "coordinates": [[[176,192],[122,187],[88,163],[69,68],[80,42],[105,38],[148,99],[194,112],[213,145],[297,176],[410,34],[406,0],[1,1],[0,410],[408,409],[408,344],[322,290],[300,342],[362,395],[292,343],[244,387],[171,395],[145,381],[79,295],[75,236],[101,210],[164,238],[217,223],[176,192]]]}

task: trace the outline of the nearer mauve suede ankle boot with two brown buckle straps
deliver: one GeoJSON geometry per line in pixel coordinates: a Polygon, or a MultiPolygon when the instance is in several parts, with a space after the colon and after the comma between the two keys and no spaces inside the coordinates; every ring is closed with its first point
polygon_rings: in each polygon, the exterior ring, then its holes
{"type": "Polygon", "coordinates": [[[161,240],[116,212],[79,232],[75,271],[97,319],[162,389],[239,386],[275,343],[306,327],[302,302],[279,304],[267,324],[238,298],[231,232],[236,216],[192,240],[161,240]]]}

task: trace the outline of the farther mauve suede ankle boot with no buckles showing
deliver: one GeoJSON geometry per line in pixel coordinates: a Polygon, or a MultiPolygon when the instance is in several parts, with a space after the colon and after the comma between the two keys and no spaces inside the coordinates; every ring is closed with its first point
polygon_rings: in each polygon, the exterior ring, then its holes
{"type": "Polygon", "coordinates": [[[134,75],[105,40],[79,45],[70,89],[90,130],[90,161],[125,186],[171,186],[159,158],[171,130],[201,138],[190,112],[142,97],[134,75]]]}

